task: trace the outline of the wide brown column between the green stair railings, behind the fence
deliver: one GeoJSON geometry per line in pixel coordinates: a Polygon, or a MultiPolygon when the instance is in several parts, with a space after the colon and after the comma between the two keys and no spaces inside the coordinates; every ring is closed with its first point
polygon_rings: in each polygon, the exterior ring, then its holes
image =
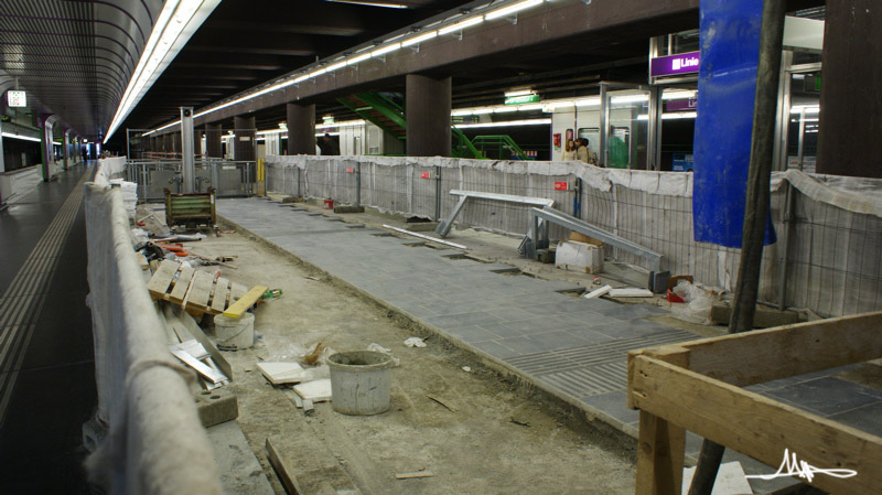
{"type": "Polygon", "coordinates": [[[408,157],[450,157],[450,77],[407,75],[408,157]]]}

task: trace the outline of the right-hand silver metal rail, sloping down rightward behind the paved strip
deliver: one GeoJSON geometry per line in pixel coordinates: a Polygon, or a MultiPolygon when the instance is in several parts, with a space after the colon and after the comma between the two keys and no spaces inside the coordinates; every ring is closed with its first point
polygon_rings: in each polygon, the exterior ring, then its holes
{"type": "Polygon", "coordinates": [[[641,258],[649,261],[649,269],[655,272],[658,272],[662,269],[660,254],[550,207],[545,207],[542,209],[530,208],[530,226],[533,227],[533,233],[535,234],[531,239],[533,241],[530,243],[530,247],[527,249],[527,256],[536,256],[536,246],[539,244],[540,236],[545,244],[548,243],[549,223],[560,225],[563,228],[569,228],[570,230],[578,232],[579,234],[593,237],[604,244],[609,244],[614,248],[639,256],[641,258]],[[540,226],[539,219],[545,220],[545,225],[540,226]]]}

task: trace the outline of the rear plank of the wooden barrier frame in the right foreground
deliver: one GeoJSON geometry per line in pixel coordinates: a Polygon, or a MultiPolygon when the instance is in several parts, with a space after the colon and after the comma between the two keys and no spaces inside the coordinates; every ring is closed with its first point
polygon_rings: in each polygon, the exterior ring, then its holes
{"type": "Polygon", "coordinates": [[[882,357],[882,312],[681,344],[689,369],[741,387],[882,357]]]}

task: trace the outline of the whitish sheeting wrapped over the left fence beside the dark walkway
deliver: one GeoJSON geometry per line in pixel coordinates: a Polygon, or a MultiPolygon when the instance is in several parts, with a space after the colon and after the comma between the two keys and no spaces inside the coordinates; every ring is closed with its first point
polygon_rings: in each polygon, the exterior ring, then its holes
{"type": "Polygon", "coordinates": [[[192,372],[169,354],[122,197],[104,176],[85,200],[98,420],[110,432],[86,461],[89,475],[110,494],[220,494],[192,372]]]}

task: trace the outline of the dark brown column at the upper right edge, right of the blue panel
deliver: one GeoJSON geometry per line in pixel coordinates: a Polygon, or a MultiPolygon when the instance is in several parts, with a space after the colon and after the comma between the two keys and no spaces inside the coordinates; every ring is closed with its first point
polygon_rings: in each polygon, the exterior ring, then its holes
{"type": "Polygon", "coordinates": [[[882,177],[882,0],[828,0],[818,173],[882,177]]]}

